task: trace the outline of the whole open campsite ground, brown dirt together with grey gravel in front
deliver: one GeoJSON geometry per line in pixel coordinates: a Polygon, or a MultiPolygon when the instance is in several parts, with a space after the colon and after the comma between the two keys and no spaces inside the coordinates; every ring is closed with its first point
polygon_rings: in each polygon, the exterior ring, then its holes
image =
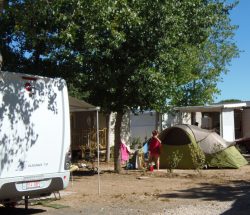
{"type": "MultiPolygon", "coordinates": [[[[61,199],[30,205],[35,214],[250,214],[250,165],[240,169],[112,171],[102,164],[98,176],[75,172],[61,199]]],[[[0,208],[2,214],[3,208],[0,208]]],[[[6,210],[6,209],[4,209],[6,210]]],[[[23,205],[17,209],[23,211],[23,205]]],[[[19,212],[20,212],[19,211],[19,212]]],[[[18,214],[18,212],[17,212],[18,214]]],[[[20,214],[20,213],[19,213],[20,214]]]]}

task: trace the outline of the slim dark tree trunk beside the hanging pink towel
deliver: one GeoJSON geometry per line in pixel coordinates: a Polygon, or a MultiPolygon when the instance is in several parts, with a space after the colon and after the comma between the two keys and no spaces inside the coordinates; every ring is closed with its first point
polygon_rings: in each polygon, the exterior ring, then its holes
{"type": "Polygon", "coordinates": [[[117,112],[115,120],[115,147],[114,147],[114,170],[116,173],[121,172],[121,124],[122,124],[122,112],[117,112]]]}

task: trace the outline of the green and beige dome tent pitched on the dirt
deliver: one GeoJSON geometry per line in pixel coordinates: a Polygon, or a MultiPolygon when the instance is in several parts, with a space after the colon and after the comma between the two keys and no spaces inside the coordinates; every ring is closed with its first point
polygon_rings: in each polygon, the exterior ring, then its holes
{"type": "Polygon", "coordinates": [[[234,142],[227,142],[216,132],[193,125],[176,125],[165,129],[159,135],[162,141],[160,168],[195,169],[240,168],[247,160],[235,148],[234,142]]]}

